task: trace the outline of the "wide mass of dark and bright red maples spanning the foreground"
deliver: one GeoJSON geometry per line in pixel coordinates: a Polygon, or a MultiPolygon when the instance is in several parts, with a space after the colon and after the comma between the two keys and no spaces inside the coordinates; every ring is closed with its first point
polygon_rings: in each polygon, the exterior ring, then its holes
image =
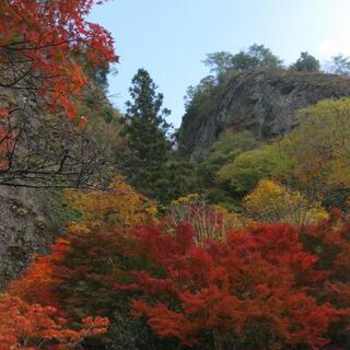
{"type": "Polygon", "coordinates": [[[300,231],[258,225],[200,244],[190,225],[174,234],[152,225],[130,235],[78,230],[10,293],[74,319],[114,315],[112,305],[132,298],[136,317],[185,348],[345,350],[349,241],[339,218],[300,231]]]}

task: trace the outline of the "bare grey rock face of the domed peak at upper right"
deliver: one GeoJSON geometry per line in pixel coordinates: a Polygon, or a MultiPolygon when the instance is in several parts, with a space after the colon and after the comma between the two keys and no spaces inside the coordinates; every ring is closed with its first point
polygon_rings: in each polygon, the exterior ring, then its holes
{"type": "Polygon", "coordinates": [[[350,96],[350,78],[318,72],[235,72],[187,109],[179,129],[185,156],[201,160],[226,129],[267,140],[295,126],[295,112],[325,98],[350,96]]]}

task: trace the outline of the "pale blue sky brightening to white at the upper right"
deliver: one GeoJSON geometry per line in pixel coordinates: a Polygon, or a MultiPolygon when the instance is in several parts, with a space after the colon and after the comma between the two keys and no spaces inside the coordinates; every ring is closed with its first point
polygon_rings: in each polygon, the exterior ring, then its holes
{"type": "Polygon", "coordinates": [[[109,75],[109,98],[125,110],[139,68],[164,94],[168,121],[179,127],[184,96],[209,73],[206,54],[235,54],[264,44],[285,63],[308,51],[320,61],[350,56],[350,0],[109,0],[90,21],[115,38],[120,63],[109,75]]]}

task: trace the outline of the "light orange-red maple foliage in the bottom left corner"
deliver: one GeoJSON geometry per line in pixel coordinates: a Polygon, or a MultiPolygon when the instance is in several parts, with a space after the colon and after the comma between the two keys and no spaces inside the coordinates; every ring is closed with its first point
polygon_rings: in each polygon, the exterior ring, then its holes
{"type": "Polygon", "coordinates": [[[0,299],[0,350],[77,349],[84,338],[106,332],[108,319],[88,317],[80,330],[67,327],[55,307],[27,304],[8,294],[0,299]]]}

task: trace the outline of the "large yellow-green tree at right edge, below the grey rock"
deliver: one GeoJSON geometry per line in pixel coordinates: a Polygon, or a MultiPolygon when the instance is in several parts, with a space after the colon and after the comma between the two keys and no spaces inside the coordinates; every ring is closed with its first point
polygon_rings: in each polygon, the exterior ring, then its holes
{"type": "Polygon", "coordinates": [[[350,98],[320,101],[298,114],[299,126],[282,142],[293,176],[308,192],[350,188],[350,98]]]}

